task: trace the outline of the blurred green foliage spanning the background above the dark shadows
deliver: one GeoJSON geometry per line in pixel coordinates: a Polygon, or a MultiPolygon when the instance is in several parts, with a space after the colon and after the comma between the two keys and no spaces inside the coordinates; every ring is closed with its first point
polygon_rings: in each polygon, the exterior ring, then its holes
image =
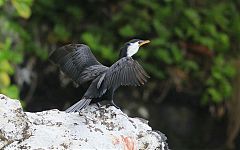
{"type": "Polygon", "coordinates": [[[235,69],[229,62],[239,56],[240,40],[235,1],[11,0],[11,4],[0,0],[0,64],[4,64],[0,78],[6,88],[12,86],[14,67],[29,55],[46,60],[49,45],[85,43],[101,62],[111,64],[124,42],[142,38],[151,43],[138,55],[156,82],[172,78],[169,68],[177,68],[187,75],[187,87],[201,89],[203,103],[220,103],[231,96],[235,69]]]}

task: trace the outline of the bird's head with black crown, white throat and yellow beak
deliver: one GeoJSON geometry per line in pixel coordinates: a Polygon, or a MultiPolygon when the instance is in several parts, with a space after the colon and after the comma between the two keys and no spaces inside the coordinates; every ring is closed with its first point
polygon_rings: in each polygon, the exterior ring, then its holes
{"type": "Polygon", "coordinates": [[[132,57],[136,54],[139,50],[139,47],[149,43],[149,40],[139,40],[139,39],[132,39],[129,42],[125,43],[124,46],[121,48],[120,51],[120,58],[122,57],[132,57]]]}

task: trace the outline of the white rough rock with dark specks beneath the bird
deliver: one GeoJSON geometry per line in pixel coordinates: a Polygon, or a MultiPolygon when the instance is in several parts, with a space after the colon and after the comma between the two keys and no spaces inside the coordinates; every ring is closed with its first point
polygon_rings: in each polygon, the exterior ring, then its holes
{"type": "Polygon", "coordinates": [[[23,112],[18,100],[0,94],[0,149],[167,150],[166,137],[147,121],[115,107],[89,106],[80,113],[57,109],[23,112]]]}

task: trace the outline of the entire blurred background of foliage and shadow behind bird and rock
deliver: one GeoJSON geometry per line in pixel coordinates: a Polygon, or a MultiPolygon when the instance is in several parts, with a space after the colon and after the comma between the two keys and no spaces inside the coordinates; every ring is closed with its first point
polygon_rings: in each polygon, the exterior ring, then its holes
{"type": "Polygon", "coordinates": [[[150,74],[115,101],[149,120],[177,150],[240,149],[240,2],[237,0],[0,0],[0,93],[26,111],[65,110],[84,94],[48,60],[69,43],[110,66],[133,38],[150,74]]]}

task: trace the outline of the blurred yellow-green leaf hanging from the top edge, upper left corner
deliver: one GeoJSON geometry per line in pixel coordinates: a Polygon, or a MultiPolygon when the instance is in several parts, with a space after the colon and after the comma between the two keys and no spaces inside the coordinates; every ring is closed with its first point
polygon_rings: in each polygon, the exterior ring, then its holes
{"type": "Polygon", "coordinates": [[[11,2],[21,17],[28,19],[31,16],[32,0],[11,0],[11,2]]]}

